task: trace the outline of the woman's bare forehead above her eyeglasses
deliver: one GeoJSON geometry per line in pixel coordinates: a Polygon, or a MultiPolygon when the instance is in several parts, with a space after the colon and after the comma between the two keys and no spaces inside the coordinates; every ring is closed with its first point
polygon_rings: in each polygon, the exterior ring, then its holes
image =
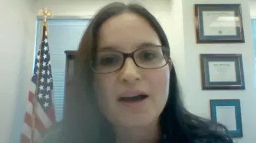
{"type": "Polygon", "coordinates": [[[142,43],[161,45],[157,32],[148,21],[134,13],[122,13],[108,19],[99,29],[98,48],[114,47],[130,52],[142,43]]]}

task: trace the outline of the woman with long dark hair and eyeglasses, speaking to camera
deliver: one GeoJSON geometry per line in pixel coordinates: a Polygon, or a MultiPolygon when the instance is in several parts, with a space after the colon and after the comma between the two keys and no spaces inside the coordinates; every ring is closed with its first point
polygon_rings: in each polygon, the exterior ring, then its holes
{"type": "Polygon", "coordinates": [[[162,27],[145,8],[103,7],[75,56],[59,142],[232,142],[221,124],[183,107],[169,55],[162,27]]]}

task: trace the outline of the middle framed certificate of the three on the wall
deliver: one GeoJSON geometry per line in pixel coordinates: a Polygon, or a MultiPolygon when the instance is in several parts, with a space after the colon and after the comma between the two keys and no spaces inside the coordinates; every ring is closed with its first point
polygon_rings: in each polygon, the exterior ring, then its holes
{"type": "Polygon", "coordinates": [[[203,90],[245,89],[241,54],[201,54],[203,90]]]}

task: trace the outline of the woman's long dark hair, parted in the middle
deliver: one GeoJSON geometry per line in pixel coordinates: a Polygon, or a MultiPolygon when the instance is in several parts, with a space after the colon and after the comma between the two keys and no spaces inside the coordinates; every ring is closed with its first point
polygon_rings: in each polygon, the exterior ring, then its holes
{"type": "MultiPolygon", "coordinates": [[[[94,98],[90,61],[97,49],[97,35],[102,23],[123,12],[133,12],[147,19],[158,33],[162,45],[169,47],[162,27],[144,7],[123,3],[112,3],[103,7],[91,20],[75,55],[74,78],[65,97],[61,142],[115,142],[115,133],[100,112],[94,98]]],[[[174,67],[170,74],[169,98],[159,121],[162,133],[166,135],[169,142],[194,142],[196,139],[208,138],[231,142],[227,134],[217,130],[222,128],[227,131],[223,125],[202,119],[185,109],[179,95],[174,67]]]]}

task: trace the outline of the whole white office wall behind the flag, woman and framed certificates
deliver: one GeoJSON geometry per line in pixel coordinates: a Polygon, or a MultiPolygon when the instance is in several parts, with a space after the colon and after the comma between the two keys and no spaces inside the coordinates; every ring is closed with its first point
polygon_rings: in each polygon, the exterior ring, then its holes
{"type": "MultiPolygon", "coordinates": [[[[25,1],[4,0],[5,4],[2,4],[2,1],[0,2],[0,12],[9,13],[8,16],[1,17],[0,22],[0,26],[2,27],[2,32],[0,32],[2,46],[0,48],[0,62],[2,62],[0,66],[0,75],[2,75],[0,90],[2,98],[0,103],[2,108],[0,110],[2,115],[4,114],[4,116],[1,116],[0,142],[3,143],[18,142],[18,138],[16,137],[19,137],[19,130],[17,131],[15,129],[19,129],[23,121],[21,116],[23,116],[23,111],[25,110],[27,87],[34,60],[35,14],[37,14],[37,11],[46,6],[55,16],[91,17],[100,7],[113,0],[38,0],[33,2],[33,6],[30,5],[31,2],[29,0],[25,1]],[[33,13],[31,13],[30,8],[32,8],[33,13]]],[[[241,1],[226,0],[225,2],[234,3],[241,1]]],[[[239,139],[239,142],[249,143],[252,140],[256,140],[256,136],[253,134],[256,128],[254,123],[256,121],[256,115],[251,112],[251,108],[256,108],[256,104],[254,104],[256,102],[256,96],[254,91],[254,56],[248,6],[246,2],[242,2],[245,44],[198,45],[195,44],[193,4],[201,2],[223,3],[221,0],[141,1],[156,16],[169,38],[171,56],[178,72],[185,104],[189,111],[210,117],[209,99],[241,99],[244,138],[239,139]],[[201,79],[199,77],[199,53],[242,53],[244,57],[246,90],[202,91],[201,79]],[[252,125],[253,123],[254,126],[252,125]]],[[[253,12],[252,9],[251,11],[253,12]]]]}

